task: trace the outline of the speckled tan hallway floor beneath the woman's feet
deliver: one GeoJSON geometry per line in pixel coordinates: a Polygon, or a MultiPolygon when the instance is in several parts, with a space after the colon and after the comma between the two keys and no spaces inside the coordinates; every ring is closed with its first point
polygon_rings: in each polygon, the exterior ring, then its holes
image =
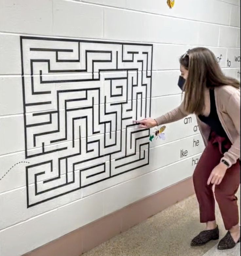
{"type": "MultiPolygon", "coordinates": [[[[240,188],[237,197],[240,209],[240,188]]],[[[218,207],[216,207],[216,216],[221,239],[226,234],[226,230],[218,207]]],[[[194,195],[84,253],[83,256],[240,255],[240,243],[226,251],[216,249],[218,241],[192,248],[191,239],[204,227],[205,224],[199,223],[198,204],[194,195]]]]}

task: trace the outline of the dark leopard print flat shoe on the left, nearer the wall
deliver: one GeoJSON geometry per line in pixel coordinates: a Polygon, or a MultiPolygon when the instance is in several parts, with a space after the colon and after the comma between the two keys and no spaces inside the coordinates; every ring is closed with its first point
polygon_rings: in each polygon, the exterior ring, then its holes
{"type": "Polygon", "coordinates": [[[191,246],[202,246],[211,240],[219,239],[219,229],[218,226],[215,229],[204,230],[199,233],[191,242],[191,246]]]}

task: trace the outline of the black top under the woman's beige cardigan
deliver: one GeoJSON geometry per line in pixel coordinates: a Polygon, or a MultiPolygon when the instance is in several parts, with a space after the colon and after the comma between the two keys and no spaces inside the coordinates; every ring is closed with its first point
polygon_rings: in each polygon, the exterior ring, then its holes
{"type": "Polygon", "coordinates": [[[209,92],[210,92],[210,114],[209,116],[199,115],[198,117],[202,122],[209,125],[211,130],[214,131],[217,135],[227,138],[227,134],[223,129],[222,124],[218,118],[214,90],[210,89],[209,92]]]}

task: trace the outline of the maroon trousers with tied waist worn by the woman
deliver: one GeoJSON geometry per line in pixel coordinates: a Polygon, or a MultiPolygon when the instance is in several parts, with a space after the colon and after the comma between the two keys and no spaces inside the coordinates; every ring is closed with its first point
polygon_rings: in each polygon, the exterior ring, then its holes
{"type": "MultiPolygon", "coordinates": [[[[212,133],[209,143],[193,174],[194,188],[199,203],[200,222],[206,223],[215,220],[215,201],[212,187],[207,185],[209,175],[223,157],[224,151],[231,147],[228,139],[212,133]]],[[[240,185],[240,161],[227,169],[220,185],[215,186],[214,194],[223,218],[226,230],[239,222],[237,197],[235,196],[240,185]]]]}

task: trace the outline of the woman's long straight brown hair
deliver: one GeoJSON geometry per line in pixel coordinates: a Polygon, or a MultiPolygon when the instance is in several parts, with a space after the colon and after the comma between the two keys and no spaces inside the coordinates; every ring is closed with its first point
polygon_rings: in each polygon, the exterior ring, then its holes
{"type": "Polygon", "coordinates": [[[205,88],[223,85],[240,88],[238,80],[224,75],[215,55],[207,48],[197,47],[188,50],[179,61],[188,70],[188,78],[184,85],[184,108],[188,113],[202,113],[205,88]]]}

